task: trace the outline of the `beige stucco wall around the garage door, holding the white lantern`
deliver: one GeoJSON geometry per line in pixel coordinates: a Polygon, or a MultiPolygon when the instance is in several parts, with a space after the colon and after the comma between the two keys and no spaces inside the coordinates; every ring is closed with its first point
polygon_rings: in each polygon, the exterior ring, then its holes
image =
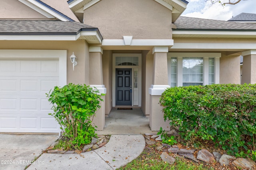
{"type": "MultiPolygon", "coordinates": [[[[67,50],[67,83],[89,85],[89,49],[84,40],[78,41],[0,41],[0,49],[67,50]],[[73,71],[70,56],[74,51],[77,66],[73,71]]],[[[60,73],[61,74],[61,73],[60,73]]]]}

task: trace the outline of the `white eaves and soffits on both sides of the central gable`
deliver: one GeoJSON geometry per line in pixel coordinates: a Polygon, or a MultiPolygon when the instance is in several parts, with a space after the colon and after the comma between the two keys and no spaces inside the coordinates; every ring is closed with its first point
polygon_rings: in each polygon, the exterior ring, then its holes
{"type": "MultiPolygon", "coordinates": [[[[84,10],[101,0],[68,0],[69,8],[83,21],[84,10]]],[[[172,23],[184,12],[188,2],[186,0],[154,0],[172,11],[172,23]]]]}

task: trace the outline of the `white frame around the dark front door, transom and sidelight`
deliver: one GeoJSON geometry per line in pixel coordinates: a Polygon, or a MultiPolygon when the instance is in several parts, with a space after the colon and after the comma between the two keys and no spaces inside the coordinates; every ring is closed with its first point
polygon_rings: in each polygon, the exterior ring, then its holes
{"type": "MultiPolygon", "coordinates": [[[[134,69],[138,69],[138,107],[141,107],[141,91],[142,91],[142,72],[141,72],[141,61],[142,57],[140,53],[113,53],[113,63],[112,63],[112,107],[116,107],[116,68],[132,68],[132,89],[133,87],[133,74],[134,69]],[[116,57],[138,57],[139,65],[138,66],[116,66],[116,57]]],[[[137,70],[136,69],[136,70],[137,70]]],[[[134,106],[134,90],[132,90],[132,106],[134,106]]]]}

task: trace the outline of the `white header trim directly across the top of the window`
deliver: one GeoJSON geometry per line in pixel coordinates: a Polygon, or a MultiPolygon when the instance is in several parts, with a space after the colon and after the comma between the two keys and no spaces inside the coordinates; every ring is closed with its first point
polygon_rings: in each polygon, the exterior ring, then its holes
{"type": "Polygon", "coordinates": [[[167,53],[167,57],[221,57],[221,53],[167,53]]]}

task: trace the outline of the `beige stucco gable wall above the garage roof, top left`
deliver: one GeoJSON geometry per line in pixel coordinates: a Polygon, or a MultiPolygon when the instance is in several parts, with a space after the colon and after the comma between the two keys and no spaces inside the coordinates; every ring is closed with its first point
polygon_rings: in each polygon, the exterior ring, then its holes
{"type": "Polygon", "coordinates": [[[18,0],[1,0],[0,18],[45,19],[46,17],[22,4],[18,0]]]}

